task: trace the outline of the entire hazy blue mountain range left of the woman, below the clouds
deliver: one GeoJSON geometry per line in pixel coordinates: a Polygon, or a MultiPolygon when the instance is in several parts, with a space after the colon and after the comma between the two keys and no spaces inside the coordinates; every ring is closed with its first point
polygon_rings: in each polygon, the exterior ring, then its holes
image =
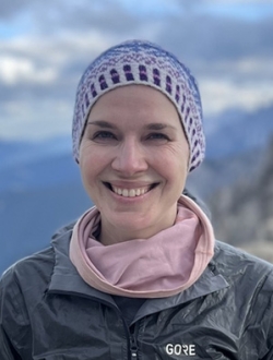
{"type": "Polygon", "coordinates": [[[21,257],[48,247],[57,229],[93,204],[63,144],[55,145],[56,153],[51,141],[40,146],[1,143],[0,149],[1,159],[4,152],[10,158],[0,166],[1,273],[21,257]]]}

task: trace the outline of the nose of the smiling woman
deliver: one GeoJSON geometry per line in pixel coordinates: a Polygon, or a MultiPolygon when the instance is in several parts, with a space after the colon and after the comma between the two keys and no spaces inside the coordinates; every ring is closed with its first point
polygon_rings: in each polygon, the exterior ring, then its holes
{"type": "Polygon", "coordinates": [[[135,140],[123,141],[116,152],[111,167],[122,176],[131,177],[147,169],[145,152],[135,140]]]}

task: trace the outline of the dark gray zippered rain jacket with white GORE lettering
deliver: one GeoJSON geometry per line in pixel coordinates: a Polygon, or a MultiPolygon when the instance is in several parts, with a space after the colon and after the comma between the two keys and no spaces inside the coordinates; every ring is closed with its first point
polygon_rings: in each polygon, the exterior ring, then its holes
{"type": "Polygon", "coordinates": [[[3,274],[1,360],[273,359],[271,264],[216,242],[194,285],[143,301],[128,324],[111,296],[79,276],[70,238],[71,226],[3,274]]]}

